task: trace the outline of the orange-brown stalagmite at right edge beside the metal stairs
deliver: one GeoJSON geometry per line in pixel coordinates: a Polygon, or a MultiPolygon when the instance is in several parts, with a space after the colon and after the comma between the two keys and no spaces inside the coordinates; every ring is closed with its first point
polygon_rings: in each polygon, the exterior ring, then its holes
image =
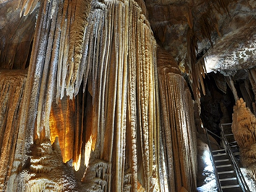
{"type": "Polygon", "coordinates": [[[232,131],[240,148],[242,165],[256,180],[256,118],[242,98],[234,106],[232,131]]]}

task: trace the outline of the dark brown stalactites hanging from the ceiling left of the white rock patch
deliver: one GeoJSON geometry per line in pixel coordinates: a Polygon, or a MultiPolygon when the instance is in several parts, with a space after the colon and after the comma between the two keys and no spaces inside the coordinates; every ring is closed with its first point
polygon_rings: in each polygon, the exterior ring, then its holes
{"type": "MultiPolygon", "coordinates": [[[[195,100],[199,102],[200,97],[200,86],[202,88],[202,92],[205,95],[205,88],[202,81],[202,77],[207,73],[205,68],[204,58],[200,58],[197,61],[196,51],[197,50],[197,40],[202,38],[206,38],[210,41],[210,45],[213,46],[212,34],[213,32],[217,32],[219,36],[221,33],[218,30],[218,17],[214,14],[213,9],[216,9],[220,14],[226,13],[229,14],[229,1],[206,1],[206,6],[200,14],[200,18],[198,19],[198,27],[200,29],[200,35],[195,35],[195,28],[192,25],[192,14],[185,14],[189,23],[189,28],[187,30],[187,64],[186,64],[186,72],[189,74],[189,84],[191,84],[192,92],[195,97],[195,100]],[[221,8],[223,12],[221,12],[221,8]],[[198,70],[200,72],[198,72],[198,70]]],[[[195,25],[194,25],[195,26],[195,25]]],[[[205,78],[205,77],[204,77],[205,78]]]]}

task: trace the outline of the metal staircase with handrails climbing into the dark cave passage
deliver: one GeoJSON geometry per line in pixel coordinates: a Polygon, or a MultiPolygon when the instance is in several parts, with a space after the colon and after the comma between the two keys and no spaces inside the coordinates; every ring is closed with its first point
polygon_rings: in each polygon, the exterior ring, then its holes
{"type": "Polygon", "coordinates": [[[205,128],[211,160],[216,175],[219,192],[249,192],[247,183],[239,167],[239,147],[231,131],[231,123],[221,124],[221,137],[205,128]],[[218,150],[212,150],[208,134],[221,139],[218,150]]]}

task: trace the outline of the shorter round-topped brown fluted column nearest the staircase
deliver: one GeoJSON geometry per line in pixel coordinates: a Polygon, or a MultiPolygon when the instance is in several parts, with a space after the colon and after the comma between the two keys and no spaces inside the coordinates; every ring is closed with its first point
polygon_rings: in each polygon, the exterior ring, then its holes
{"type": "Polygon", "coordinates": [[[192,98],[176,62],[161,49],[158,79],[163,114],[161,152],[168,167],[168,180],[163,186],[168,186],[167,191],[196,191],[197,139],[192,98]]]}

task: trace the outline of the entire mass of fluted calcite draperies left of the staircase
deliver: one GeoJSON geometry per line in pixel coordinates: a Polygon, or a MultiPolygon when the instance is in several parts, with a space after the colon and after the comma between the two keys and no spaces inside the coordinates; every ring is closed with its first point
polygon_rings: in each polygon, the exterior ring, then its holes
{"type": "Polygon", "coordinates": [[[195,191],[192,98],[157,51],[144,3],[38,4],[28,71],[0,71],[0,187],[195,191]]]}

